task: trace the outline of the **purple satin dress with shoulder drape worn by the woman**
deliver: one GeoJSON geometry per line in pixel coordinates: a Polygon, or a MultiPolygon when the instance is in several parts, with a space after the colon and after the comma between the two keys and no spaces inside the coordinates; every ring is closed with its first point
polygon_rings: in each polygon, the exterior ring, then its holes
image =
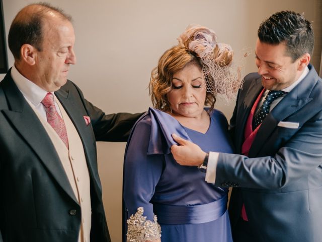
{"type": "Polygon", "coordinates": [[[232,241],[228,190],[207,183],[206,173],[197,167],[181,166],[173,159],[173,133],[206,152],[233,152],[227,120],[220,111],[211,112],[209,129],[202,134],[150,108],[134,126],[126,148],[123,199],[127,217],[138,207],[144,208],[147,220],[153,221],[156,214],[163,242],[232,241]]]}

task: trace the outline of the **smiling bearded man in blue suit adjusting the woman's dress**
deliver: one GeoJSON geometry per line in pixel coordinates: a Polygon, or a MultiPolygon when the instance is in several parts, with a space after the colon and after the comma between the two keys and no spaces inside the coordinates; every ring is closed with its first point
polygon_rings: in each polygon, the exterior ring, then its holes
{"type": "Polygon", "coordinates": [[[322,80],[309,64],[311,23],[282,11],[258,30],[258,73],[245,77],[229,130],[240,155],[210,152],[174,135],[182,165],[233,187],[234,241],[322,241],[322,80]]]}

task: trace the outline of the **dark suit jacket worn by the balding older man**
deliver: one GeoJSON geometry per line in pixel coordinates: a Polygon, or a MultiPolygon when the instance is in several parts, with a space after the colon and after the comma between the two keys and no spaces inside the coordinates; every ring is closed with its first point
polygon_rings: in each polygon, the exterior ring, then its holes
{"type": "MultiPolygon", "coordinates": [[[[140,114],[106,115],[71,81],[55,95],[84,147],[91,182],[91,241],[108,242],[95,141],[126,141],[140,114]],[[91,125],[84,115],[90,116],[91,125]]],[[[9,71],[0,82],[0,241],[76,242],[81,217],[58,154],[9,71]]]]}

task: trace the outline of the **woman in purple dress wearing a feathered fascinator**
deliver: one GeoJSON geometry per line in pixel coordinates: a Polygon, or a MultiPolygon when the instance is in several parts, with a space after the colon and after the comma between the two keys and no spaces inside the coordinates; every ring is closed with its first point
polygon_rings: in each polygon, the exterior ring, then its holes
{"type": "Polygon", "coordinates": [[[204,151],[232,153],[227,120],[215,96],[240,86],[232,50],[215,33],[190,25],[152,71],[150,108],[133,128],[125,152],[123,198],[127,241],[232,241],[227,189],[205,182],[196,167],[181,166],[171,134],[204,151]],[[204,108],[204,106],[209,106],[204,108]]]}

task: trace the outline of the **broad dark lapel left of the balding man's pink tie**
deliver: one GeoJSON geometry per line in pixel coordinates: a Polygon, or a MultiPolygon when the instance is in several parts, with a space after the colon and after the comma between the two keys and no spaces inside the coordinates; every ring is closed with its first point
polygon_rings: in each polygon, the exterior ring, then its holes
{"type": "Polygon", "coordinates": [[[77,203],[58,154],[37,115],[11,79],[10,73],[3,82],[10,108],[2,112],[34,150],[61,188],[77,203]]]}

